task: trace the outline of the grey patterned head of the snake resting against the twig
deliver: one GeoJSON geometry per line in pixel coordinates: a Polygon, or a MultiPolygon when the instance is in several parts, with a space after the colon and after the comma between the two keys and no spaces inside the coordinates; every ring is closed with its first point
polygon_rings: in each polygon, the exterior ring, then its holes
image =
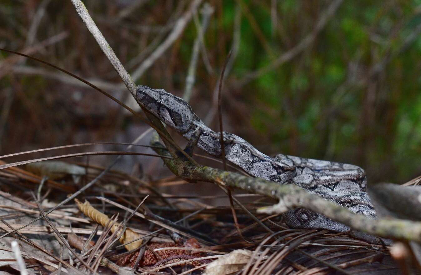
{"type": "Polygon", "coordinates": [[[186,133],[193,122],[192,107],[185,101],[164,89],[138,86],[136,100],[163,123],[180,133],[186,133]]]}

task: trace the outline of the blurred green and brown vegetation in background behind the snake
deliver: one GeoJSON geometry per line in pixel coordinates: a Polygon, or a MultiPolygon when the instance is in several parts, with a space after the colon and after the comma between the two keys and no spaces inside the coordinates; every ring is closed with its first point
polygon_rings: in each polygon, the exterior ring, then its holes
{"type": "MultiPolygon", "coordinates": [[[[190,5],[182,0],[85,2],[129,72],[165,40],[190,5]]],[[[214,109],[213,91],[234,47],[223,89],[226,131],[268,154],[357,164],[366,169],[370,183],[403,183],[421,174],[420,0],[205,2],[214,12],[190,100],[200,117],[214,109]],[[237,51],[235,34],[240,35],[237,51]],[[285,60],[279,61],[282,56],[285,60]]],[[[200,20],[201,13],[196,14],[200,20]]],[[[136,83],[181,96],[197,34],[192,19],[136,83]]],[[[33,56],[77,75],[120,83],[70,1],[3,0],[0,46],[21,52],[35,48],[33,56]],[[42,6],[45,13],[40,17],[42,6]],[[39,22],[34,33],[35,19],[39,22]],[[61,32],[67,37],[37,46],[61,32]]],[[[2,154],[115,141],[119,131],[127,134],[139,123],[89,88],[22,72],[31,67],[57,73],[50,68],[4,52],[0,56],[2,154]]],[[[115,95],[125,98],[128,93],[115,95]]],[[[217,126],[214,116],[208,123],[217,126]]]]}

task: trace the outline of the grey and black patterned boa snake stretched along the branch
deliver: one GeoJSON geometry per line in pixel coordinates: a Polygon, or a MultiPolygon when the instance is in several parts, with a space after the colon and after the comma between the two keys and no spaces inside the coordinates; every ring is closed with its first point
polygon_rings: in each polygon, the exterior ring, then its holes
{"type": "MultiPolygon", "coordinates": [[[[192,111],[187,101],[166,92],[138,86],[136,101],[166,125],[190,139],[201,128],[197,147],[221,158],[220,133],[208,128],[192,111]]],[[[263,154],[233,133],[223,133],[225,157],[251,176],[280,184],[296,184],[309,192],[348,208],[356,214],[376,219],[376,211],[367,195],[367,180],[362,168],[352,164],[314,160],[290,155],[273,158],[263,154]]],[[[296,208],[284,214],[287,224],[300,228],[347,231],[349,227],[307,209],[296,208]]]]}

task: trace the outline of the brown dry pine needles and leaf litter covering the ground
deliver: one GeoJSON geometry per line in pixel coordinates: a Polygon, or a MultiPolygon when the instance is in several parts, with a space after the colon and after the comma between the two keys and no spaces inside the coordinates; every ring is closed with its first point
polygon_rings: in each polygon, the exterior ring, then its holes
{"type": "Polygon", "coordinates": [[[273,203],[262,196],[235,194],[247,198],[244,206],[258,223],[237,206],[233,219],[231,207],[205,204],[205,197],[159,192],[168,185],[183,188],[187,182],[176,177],[151,182],[145,176],[110,170],[77,199],[51,211],[104,169],[44,161],[1,170],[0,261],[9,262],[2,270],[22,268],[10,248],[18,240],[31,274],[400,272],[385,245],[352,238],[347,232],[289,228],[279,215],[257,214],[256,208],[273,203]],[[37,217],[41,219],[32,224],[37,217]]]}

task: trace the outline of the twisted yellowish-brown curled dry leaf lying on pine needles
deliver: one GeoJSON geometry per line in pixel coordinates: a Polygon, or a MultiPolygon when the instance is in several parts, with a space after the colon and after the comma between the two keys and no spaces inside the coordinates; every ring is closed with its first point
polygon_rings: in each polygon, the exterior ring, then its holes
{"type": "MultiPolygon", "coordinates": [[[[75,199],[75,202],[77,204],[77,207],[79,207],[80,211],[82,211],[83,214],[85,214],[85,216],[88,216],[94,222],[101,224],[103,227],[106,227],[107,225],[109,226],[110,223],[113,223],[111,226],[111,232],[114,233],[118,230],[118,227],[120,224],[113,222],[107,215],[93,208],[87,200],[85,200],[84,203],[81,203],[80,200],[75,199]]],[[[124,247],[128,251],[130,251],[141,246],[142,240],[136,240],[133,243],[130,243],[132,240],[135,240],[140,237],[141,237],[140,234],[134,232],[130,228],[126,228],[126,230],[124,231],[119,241],[120,243],[123,243],[123,244],[129,243],[125,245],[124,247]]]]}

